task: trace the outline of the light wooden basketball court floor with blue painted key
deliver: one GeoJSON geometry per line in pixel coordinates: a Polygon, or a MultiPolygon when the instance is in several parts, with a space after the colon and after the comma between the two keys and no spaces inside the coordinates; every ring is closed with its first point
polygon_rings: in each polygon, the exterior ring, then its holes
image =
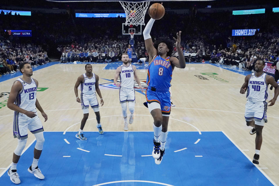
{"type": "MultiPolygon", "coordinates": [[[[133,124],[124,132],[119,90],[112,79],[121,63],[92,64],[100,77],[104,105],[100,107],[104,134],[96,128],[90,109],[84,130],[87,141],[75,135],[83,117],[76,102],[74,84],[85,72],[85,63],[51,62],[34,68],[39,81],[37,99],[48,115],[44,126],[45,143],[39,168],[45,175],[38,180],[27,169],[33,160],[35,137],[28,133],[26,149],[17,172],[21,185],[276,185],[279,183],[277,133],[279,104],[267,110],[260,164],[251,162],[255,135],[246,126],[246,96],[239,93],[245,73],[234,67],[209,63],[186,64],[175,68],[169,135],[160,165],[151,157],[153,119],[142,104],[145,95],[136,92],[133,124]]],[[[137,66],[142,85],[147,67],[137,66]]],[[[17,140],[12,136],[13,111],[6,101],[19,72],[0,78],[0,185],[13,185],[7,174],[17,140]]],[[[135,83],[136,85],[136,83],[135,83]]],[[[80,88],[80,87],[79,87],[80,88]]],[[[135,87],[136,88],[136,87],[135,87]]],[[[78,90],[80,94],[80,89],[78,90]]],[[[274,91],[269,90],[270,100],[274,91]]],[[[98,97],[98,96],[97,96],[98,97]]],[[[98,100],[100,101],[99,97],[98,100]]]]}

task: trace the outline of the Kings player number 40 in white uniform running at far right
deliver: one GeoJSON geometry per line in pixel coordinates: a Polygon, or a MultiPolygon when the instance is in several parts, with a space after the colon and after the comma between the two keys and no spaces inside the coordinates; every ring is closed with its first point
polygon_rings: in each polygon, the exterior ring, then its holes
{"type": "Polygon", "coordinates": [[[269,101],[268,106],[274,105],[278,94],[279,86],[274,81],[273,76],[269,76],[263,72],[264,61],[261,59],[255,62],[255,72],[245,77],[245,82],[240,89],[240,93],[244,94],[247,89],[247,102],[245,105],[245,120],[247,126],[252,126],[250,134],[256,133],[255,139],[255,154],[253,163],[259,164],[260,150],[262,146],[262,129],[264,123],[267,123],[267,97],[268,85],[275,88],[274,97],[269,101]]]}

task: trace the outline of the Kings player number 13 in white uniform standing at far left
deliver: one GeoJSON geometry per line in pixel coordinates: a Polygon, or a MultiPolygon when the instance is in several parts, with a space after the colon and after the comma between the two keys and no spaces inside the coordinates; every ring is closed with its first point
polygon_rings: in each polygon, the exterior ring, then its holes
{"type": "Polygon", "coordinates": [[[17,174],[17,163],[26,145],[28,138],[28,130],[36,137],[36,145],[34,148],[34,158],[32,165],[28,168],[28,172],[34,174],[39,179],[44,179],[44,175],[38,168],[38,161],[41,156],[44,144],[43,126],[36,108],[41,112],[44,121],[47,121],[47,115],[44,113],[37,97],[38,81],[31,78],[33,70],[28,62],[19,65],[22,77],[18,78],[12,85],[7,106],[14,110],[13,134],[17,138],[17,148],[12,156],[12,166],[8,170],[8,175],[12,183],[19,184],[20,179],[17,174]]]}

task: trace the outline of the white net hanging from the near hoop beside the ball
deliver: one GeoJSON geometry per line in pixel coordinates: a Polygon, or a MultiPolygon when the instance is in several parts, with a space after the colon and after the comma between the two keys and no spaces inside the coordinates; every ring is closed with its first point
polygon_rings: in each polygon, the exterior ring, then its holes
{"type": "Polygon", "coordinates": [[[124,8],[126,13],[126,26],[127,25],[145,25],[144,24],[144,16],[147,8],[149,7],[150,1],[142,1],[142,2],[126,2],[119,1],[121,6],[124,8]]]}

